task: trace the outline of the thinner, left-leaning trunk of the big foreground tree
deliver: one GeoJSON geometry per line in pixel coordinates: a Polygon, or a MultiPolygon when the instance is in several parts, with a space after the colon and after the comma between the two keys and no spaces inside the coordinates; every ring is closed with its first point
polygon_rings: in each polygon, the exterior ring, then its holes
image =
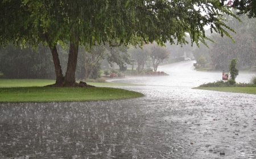
{"type": "Polygon", "coordinates": [[[60,59],[59,59],[59,54],[57,52],[56,46],[51,46],[49,45],[49,48],[51,49],[52,53],[52,58],[53,58],[53,63],[55,67],[55,74],[56,74],[56,85],[61,85],[64,81],[61,66],[60,66],[60,59]]]}

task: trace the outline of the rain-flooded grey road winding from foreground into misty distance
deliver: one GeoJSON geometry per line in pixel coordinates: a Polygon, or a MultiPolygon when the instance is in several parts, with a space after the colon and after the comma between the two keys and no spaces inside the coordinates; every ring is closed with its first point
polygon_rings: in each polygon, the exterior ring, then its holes
{"type": "Polygon", "coordinates": [[[0,158],[256,158],[256,96],[191,89],[221,79],[192,66],[114,81],[142,98],[0,104],[0,158]]]}

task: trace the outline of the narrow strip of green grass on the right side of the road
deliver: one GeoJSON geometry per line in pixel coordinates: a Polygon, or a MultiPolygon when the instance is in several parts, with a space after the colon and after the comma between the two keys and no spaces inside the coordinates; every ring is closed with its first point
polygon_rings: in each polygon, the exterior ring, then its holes
{"type": "Polygon", "coordinates": [[[233,92],[256,94],[256,87],[196,87],[193,89],[204,89],[209,91],[233,92]]]}

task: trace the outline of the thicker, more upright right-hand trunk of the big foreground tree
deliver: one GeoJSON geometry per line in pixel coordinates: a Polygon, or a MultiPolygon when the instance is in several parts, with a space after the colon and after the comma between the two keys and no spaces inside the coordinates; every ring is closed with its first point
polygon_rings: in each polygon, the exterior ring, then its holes
{"type": "Polygon", "coordinates": [[[75,42],[70,42],[69,44],[69,54],[68,54],[68,66],[65,75],[64,85],[73,86],[76,83],[75,73],[77,64],[77,55],[79,49],[78,37],[75,42]]]}

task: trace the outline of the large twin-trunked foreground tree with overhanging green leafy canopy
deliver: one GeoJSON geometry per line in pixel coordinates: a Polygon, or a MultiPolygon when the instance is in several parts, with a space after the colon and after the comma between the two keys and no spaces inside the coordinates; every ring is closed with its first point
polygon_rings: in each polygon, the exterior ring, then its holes
{"type": "Polygon", "coordinates": [[[89,48],[96,43],[110,45],[185,44],[185,33],[191,41],[204,42],[204,26],[229,36],[222,12],[232,15],[219,1],[71,1],[9,0],[0,6],[0,44],[14,41],[51,49],[56,72],[56,85],[75,84],[79,45],[89,48]],[[197,7],[195,7],[197,6],[197,7]],[[200,8],[200,9],[198,9],[200,8]],[[201,10],[205,12],[201,14],[201,10]],[[134,40],[134,37],[139,37],[134,40]],[[65,76],[60,66],[56,45],[69,45],[65,76]]]}

